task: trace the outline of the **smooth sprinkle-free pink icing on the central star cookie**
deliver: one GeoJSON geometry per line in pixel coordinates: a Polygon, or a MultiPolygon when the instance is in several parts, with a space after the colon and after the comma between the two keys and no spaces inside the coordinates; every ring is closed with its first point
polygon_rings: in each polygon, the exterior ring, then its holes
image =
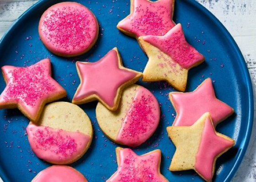
{"type": "Polygon", "coordinates": [[[118,65],[117,51],[111,50],[97,62],[77,62],[81,84],[73,101],[79,101],[96,94],[108,106],[115,105],[117,89],[137,76],[136,72],[121,69],[118,65]]]}

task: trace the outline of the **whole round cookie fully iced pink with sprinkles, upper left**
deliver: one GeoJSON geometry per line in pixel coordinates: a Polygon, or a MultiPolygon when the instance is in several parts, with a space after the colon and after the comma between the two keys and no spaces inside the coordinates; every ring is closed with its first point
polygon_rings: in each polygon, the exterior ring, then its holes
{"type": "Polygon", "coordinates": [[[43,13],[38,31],[49,51],[72,57],[91,49],[98,38],[99,25],[95,15],[84,5],[63,2],[43,13]]]}

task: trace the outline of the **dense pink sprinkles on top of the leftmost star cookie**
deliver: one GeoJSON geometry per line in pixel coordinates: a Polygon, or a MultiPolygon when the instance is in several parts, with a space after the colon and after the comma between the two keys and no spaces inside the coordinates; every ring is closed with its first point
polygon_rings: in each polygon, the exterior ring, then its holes
{"type": "Polygon", "coordinates": [[[17,68],[9,71],[11,81],[3,96],[5,101],[15,100],[25,102],[29,106],[35,106],[37,100],[46,93],[56,90],[45,75],[46,65],[39,63],[27,68],[17,68]]]}

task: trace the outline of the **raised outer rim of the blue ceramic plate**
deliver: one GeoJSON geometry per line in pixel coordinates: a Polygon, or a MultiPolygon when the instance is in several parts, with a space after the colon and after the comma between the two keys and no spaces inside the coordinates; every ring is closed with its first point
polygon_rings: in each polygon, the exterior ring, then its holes
{"type": "MultiPolygon", "coordinates": [[[[15,29],[16,26],[18,26],[19,20],[25,18],[28,14],[30,14],[30,11],[34,9],[40,8],[41,5],[46,3],[48,0],[39,0],[37,3],[32,5],[30,8],[28,8],[22,15],[20,15],[14,22],[13,24],[6,30],[5,34],[2,36],[0,39],[0,49],[3,45],[3,42],[5,39],[9,37],[9,34],[12,33],[12,29],[15,29]]],[[[75,1],[75,0],[69,0],[69,1],[75,1]]],[[[198,3],[196,0],[186,0],[186,3],[196,7],[198,10],[200,10],[202,13],[204,13],[209,19],[211,19],[215,25],[217,25],[217,28],[221,30],[222,33],[224,33],[225,37],[227,38],[227,41],[229,41],[231,44],[230,46],[234,48],[234,51],[236,52],[236,56],[238,57],[238,60],[240,61],[240,66],[241,70],[244,73],[245,76],[245,84],[246,88],[248,88],[248,107],[249,107],[249,112],[248,112],[248,125],[246,127],[245,131],[245,137],[241,142],[240,148],[241,150],[238,151],[238,157],[237,160],[235,161],[234,166],[231,168],[229,174],[226,176],[224,179],[224,182],[229,182],[231,179],[235,176],[235,172],[238,170],[240,167],[240,164],[242,163],[243,158],[245,157],[245,152],[248,148],[250,138],[251,138],[251,131],[252,131],[252,125],[253,125],[253,117],[254,117],[254,99],[253,99],[253,89],[252,89],[252,83],[251,83],[251,76],[249,74],[249,70],[245,64],[245,58],[242,55],[242,52],[240,51],[239,46],[235,42],[234,38],[232,35],[229,33],[229,31],[225,28],[225,26],[220,22],[220,20],[213,15],[207,8],[205,8],[203,5],[198,3]]],[[[58,1],[56,2],[58,3],[58,1]]],[[[3,181],[8,181],[8,178],[6,177],[5,173],[3,172],[2,166],[0,166],[0,178],[3,181]]]]}

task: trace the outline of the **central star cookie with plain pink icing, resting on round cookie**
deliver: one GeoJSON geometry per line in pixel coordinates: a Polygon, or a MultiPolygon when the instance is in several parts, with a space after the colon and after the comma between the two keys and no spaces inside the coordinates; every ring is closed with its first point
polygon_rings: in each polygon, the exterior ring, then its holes
{"type": "Polygon", "coordinates": [[[83,104],[98,100],[115,111],[123,88],[139,80],[142,73],[123,67],[117,48],[96,62],[76,62],[80,85],[72,103],[83,104]]]}

